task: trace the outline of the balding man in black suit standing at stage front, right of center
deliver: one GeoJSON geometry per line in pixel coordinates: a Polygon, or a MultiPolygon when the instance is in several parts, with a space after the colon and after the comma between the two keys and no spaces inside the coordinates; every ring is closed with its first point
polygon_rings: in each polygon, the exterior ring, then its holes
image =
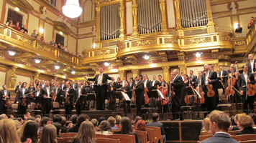
{"type": "MultiPolygon", "coordinates": [[[[180,94],[182,89],[183,80],[181,76],[178,75],[178,69],[173,69],[173,82],[170,82],[170,87],[174,87],[175,96],[172,98],[172,108],[171,111],[173,112],[173,119],[179,120],[179,115],[177,112],[180,112],[180,94]]],[[[170,90],[170,89],[168,89],[170,90]]]]}

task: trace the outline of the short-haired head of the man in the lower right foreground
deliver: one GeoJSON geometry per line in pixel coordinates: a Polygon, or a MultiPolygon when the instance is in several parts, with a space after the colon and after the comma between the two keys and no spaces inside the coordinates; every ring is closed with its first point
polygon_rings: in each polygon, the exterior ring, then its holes
{"type": "Polygon", "coordinates": [[[215,134],[216,132],[228,132],[230,119],[226,113],[214,110],[209,114],[209,119],[212,134],[215,134]]]}

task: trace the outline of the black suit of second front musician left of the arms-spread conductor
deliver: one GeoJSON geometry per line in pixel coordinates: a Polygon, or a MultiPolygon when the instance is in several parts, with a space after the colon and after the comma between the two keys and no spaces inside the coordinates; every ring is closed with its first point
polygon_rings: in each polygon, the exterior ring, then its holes
{"type": "Polygon", "coordinates": [[[70,87],[69,89],[68,88],[65,89],[64,94],[65,94],[65,98],[69,97],[69,102],[70,102],[70,104],[65,104],[65,114],[70,115],[72,114],[73,99],[76,96],[76,92],[72,87],[70,87]],[[67,92],[68,92],[68,95],[66,94],[67,92]]]}

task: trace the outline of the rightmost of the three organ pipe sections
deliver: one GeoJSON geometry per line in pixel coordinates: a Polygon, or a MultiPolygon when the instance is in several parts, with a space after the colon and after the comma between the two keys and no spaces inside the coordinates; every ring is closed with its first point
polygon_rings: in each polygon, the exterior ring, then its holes
{"type": "Polygon", "coordinates": [[[208,23],[205,0],[180,0],[180,17],[183,28],[204,26],[208,23]]]}

